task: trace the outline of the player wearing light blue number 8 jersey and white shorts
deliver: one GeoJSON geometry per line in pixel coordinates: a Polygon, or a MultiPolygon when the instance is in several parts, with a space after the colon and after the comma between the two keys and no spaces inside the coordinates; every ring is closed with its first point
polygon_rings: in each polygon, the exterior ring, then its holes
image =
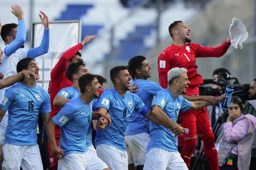
{"type": "MultiPolygon", "coordinates": [[[[132,77],[126,66],[116,66],[110,70],[110,79],[114,84],[111,90],[105,90],[97,103],[99,112],[108,113],[111,124],[97,129],[96,151],[112,170],[127,170],[128,155],[124,142],[124,132],[133,111],[144,115],[157,124],[171,130],[177,125],[166,114],[152,112],[144,106],[139,96],[129,92],[132,77]]],[[[180,130],[178,130],[180,131],[180,130]]]]}

